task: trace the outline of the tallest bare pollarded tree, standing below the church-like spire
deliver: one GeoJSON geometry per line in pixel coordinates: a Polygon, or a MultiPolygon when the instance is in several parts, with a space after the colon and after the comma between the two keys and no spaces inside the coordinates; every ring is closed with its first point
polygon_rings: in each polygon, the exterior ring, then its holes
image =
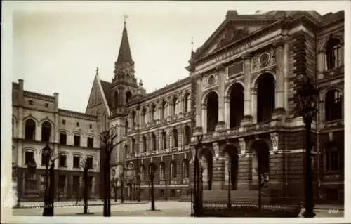
{"type": "Polygon", "coordinates": [[[104,189],[104,209],[103,216],[111,216],[111,185],[110,185],[110,160],[111,154],[114,150],[114,147],[124,142],[124,140],[119,140],[117,143],[117,133],[114,129],[110,128],[109,130],[103,132],[100,135],[102,150],[105,152],[105,162],[103,164],[103,173],[105,180],[105,189],[104,189]]]}

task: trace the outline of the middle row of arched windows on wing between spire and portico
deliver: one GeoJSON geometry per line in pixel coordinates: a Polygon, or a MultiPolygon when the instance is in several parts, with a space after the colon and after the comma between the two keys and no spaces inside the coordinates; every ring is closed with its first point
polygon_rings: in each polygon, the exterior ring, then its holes
{"type": "MultiPolygon", "coordinates": [[[[191,142],[191,129],[190,126],[185,126],[184,128],[184,138],[183,138],[183,145],[189,145],[191,142]]],[[[172,142],[170,143],[169,147],[178,147],[178,130],[176,128],[173,129],[172,131],[172,142]]],[[[142,147],[141,147],[141,152],[147,152],[147,137],[143,136],[141,139],[142,147]]],[[[151,144],[151,150],[152,151],[157,151],[157,136],[155,133],[152,133],[151,138],[150,138],[150,144],[151,144]]],[[[166,150],[168,148],[167,145],[167,133],[166,131],[162,131],[161,133],[161,145],[159,145],[160,150],[166,150]]],[[[128,154],[128,145],[125,145],[125,150],[126,153],[128,154]]],[[[131,154],[134,154],[136,152],[135,150],[135,138],[132,138],[131,140],[131,154]]]]}

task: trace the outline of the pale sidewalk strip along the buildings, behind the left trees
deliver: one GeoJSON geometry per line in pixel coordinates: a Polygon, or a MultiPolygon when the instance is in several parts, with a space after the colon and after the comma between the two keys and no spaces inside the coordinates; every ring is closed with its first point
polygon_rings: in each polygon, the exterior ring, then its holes
{"type": "MultiPolygon", "coordinates": [[[[147,204],[149,202],[142,201],[142,202],[130,202],[130,201],[124,201],[123,204],[147,204]]],[[[103,205],[104,202],[102,200],[95,200],[95,201],[88,201],[88,206],[98,206],[98,205],[103,205]]],[[[111,204],[122,204],[121,200],[118,200],[115,202],[113,199],[111,200],[111,204]]],[[[80,201],[76,203],[76,201],[60,201],[60,202],[54,202],[55,207],[78,207],[78,206],[84,206],[84,202],[80,201]]],[[[43,208],[44,207],[44,202],[20,202],[20,208],[43,208]]],[[[19,208],[19,207],[15,207],[19,208]]]]}

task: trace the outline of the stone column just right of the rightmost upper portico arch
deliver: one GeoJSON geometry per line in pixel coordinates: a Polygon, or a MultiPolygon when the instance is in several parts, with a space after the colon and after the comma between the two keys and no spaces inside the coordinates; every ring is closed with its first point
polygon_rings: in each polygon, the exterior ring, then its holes
{"type": "Polygon", "coordinates": [[[284,112],[284,41],[279,40],[275,46],[275,113],[284,112]]]}

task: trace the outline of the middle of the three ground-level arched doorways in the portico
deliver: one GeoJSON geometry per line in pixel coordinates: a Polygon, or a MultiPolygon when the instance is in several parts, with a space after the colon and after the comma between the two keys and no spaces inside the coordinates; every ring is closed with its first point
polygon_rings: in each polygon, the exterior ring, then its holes
{"type": "Polygon", "coordinates": [[[238,150],[237,147],[233,145],[227,145],[224,150],[228,159],[225,161],[225,185],[228,184],[228,168],[227,163],[230,163],[230,188],[231,190],[237,190],[238,183],[238,169],[239,169],[239,161],[238,161],[238,150]]]}

